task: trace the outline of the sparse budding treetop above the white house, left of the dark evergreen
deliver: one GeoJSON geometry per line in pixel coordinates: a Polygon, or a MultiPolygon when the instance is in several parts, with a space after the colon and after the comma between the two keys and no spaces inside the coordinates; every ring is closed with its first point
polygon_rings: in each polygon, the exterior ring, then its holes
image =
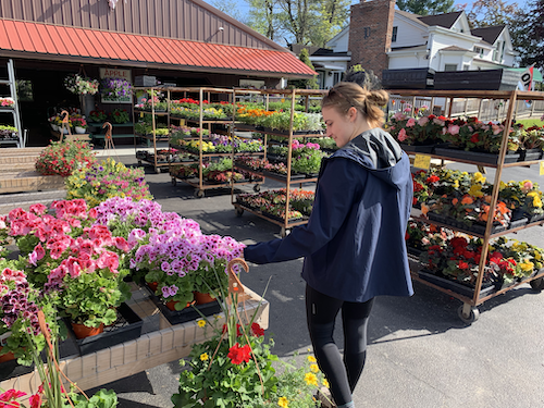
{"type": "Polygon", "coordinates": [[[518,20],[520,9],[517,3],[506,4],[503,0],[477,0],[467,12],[472,28],[492,27],[495,25],[511,26],[518,20]]]}

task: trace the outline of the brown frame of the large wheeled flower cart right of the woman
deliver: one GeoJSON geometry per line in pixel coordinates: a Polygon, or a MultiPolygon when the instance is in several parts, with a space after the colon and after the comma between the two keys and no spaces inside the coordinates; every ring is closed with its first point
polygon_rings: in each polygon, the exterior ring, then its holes
{"type": "MultiPolygon", "coordinates": [[[[490,203],[490,214],[495,213],[495,208],[497,205],[497,199],[498,199],[498,193],[499,193],[499,183],[500,178],[503,175],[503,169],[505,168],[515,168],[515,166],[530,166],[531,164],[539,164],[541,163],[541,160],[531,160],[531,161],[522,161],[522,162],[509,162],[505,163],[505,154],[507,151],[507,145],[508,145],[508,135],[510,132],[510,124],[511,120],[515,115],[516,112],[516,107],[518,101],[524,101],[524,100],[542,100],[544,99],[544,94],[543,92],[533,92],[533,91],[519,91],[519,90],[512,90],[512,91],[494,91],[494,90],[406,90],[406,89],[392,89],[388,90],[391,95],[399,95],[401,97],[430,97],[430,98],[446,98],[449,100],[449,114],[452,113],[452,107],[453,107],[453,101],[455,98],[480,98],[480,99],[497,99],[497,100],[504,100],[508,102],[507,106],[507,113],[506,113],[506,123],[507,125],[505,126],[504,133],[503,133],[503,139],[500,144],[500,150],[498,153],[498,158],[496,163],[484,163],[475,160],[470,160],[470,159],[459,159],[459,158],[450,158],[450,157],[445,157],[445,156],[440,156],[440,154],[428,154],[424,153],[425,156],[430,156],[432,159],[440,159],[440,160],[448,160],[453,162],[460,162],[460,163],[466,163],[466,164],[474,164],[479,169],[484,169],[484,168],[493,168],[495,169],[495,178],[494,178],[494,184],[493,184],[493,193],[492,193],[492,199],[490,203]]],[[[415,99],[413,99],[415,100],[415,99]]],[[[415,153],[409,153],[409,154],[415,154],[415,153]]],[[[541,163],[542,165],[542,163],[541,163]]],[[[459,318],[466,322],[466,323],[472,323],[478,320],[479,318],[479,309],[478,306],[482,305],[484,301],[502,295],[508,290],[511,290],[516,287],[518,287],[521,284],[529,283],[534,289],[536,290],[542,290],[544,289],[544,269],[540,270],[536,274],[533,274],[531,277],[523,280],[522,282],[515,283],[508,287],[498,289],[496,292],[493,292],[491,294],[481,295],[481,289],[482,289],[482,282],[483,282],[483,276],[484,276],[484,267],[486,263],[486,258],[487,258],[487,252],[489,252],[489,244],[491,239],[497,238],[499,236],[515,233],[517,231],[521,231],[524,228],[530,228],[533,226],[537,225],[543,225],[544,220],[540,220],[536,222],[532,222],[522,226],[518,226],[515,228],[506,230],[503,232],[498,233],[492,233],[492,227],[493,227],[493,217],[487,218],[487,222],[485,225],[485,233],[483,234],[477,234],[471,231],[462,230],[457,226],[452,226],[452,225],[446,225],[441,222],[432,221],[426,218],[422,217],[415,217],[415,221],[421,221],[425,222],[428,224],[435,224],[437,226],[443,226],[443,227],[448,227],[450,230],[456,230],[462,233],[466,233],[468,235],[477,236],[482,238],[483,244],[482,244],[482,254],[481,254],[481,259],[479,263],[479,273],[477,277],[477,282],[474,285],[474,295],[473,297],[468,297],[465,295],[461,295],[455,290],[452,289],[446,289],[444,287],[441,287],[438,285],[435,285],[431,282],[428,282],[418,275],[418,269],[420,268],[420,264],[416,261],[411,261],[411,270],[412,270],[412,279],[415,281],[421,282],[424,285],[431,286],[437,290],[447,293],[448,295],[461,300],[463,304],[459,307],[458,314],[459,318]]]]}

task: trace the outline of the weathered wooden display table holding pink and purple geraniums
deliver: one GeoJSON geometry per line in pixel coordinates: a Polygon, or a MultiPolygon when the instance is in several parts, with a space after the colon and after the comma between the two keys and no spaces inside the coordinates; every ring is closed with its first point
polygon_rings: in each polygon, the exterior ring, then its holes
{"type": "MultiPolygon", "coordinates": [[[[203,342],[212,334],[197,324],[198,319],[170,324],[151,301],[146,288],[135,284],[132,288],[133,296],[127,304],[144,320],[141,336],[83,357],[66,357],[60,361],[64,373],[82,390],[187,357],[191,345],[203,342]]],[[[268,329],[269,302],[247,287],[244,289],[249,297],[245,301],[247,314],[251,316],[258,309],[256,321],[261,327],[268,329]]],[[[242,304],[239,307],[242,308],[242,304]]],[[[222,314],[220,317],[224,319],[222,314]]],[[[39,376],[36,371],[0,383],[3,390],[15,388],[29,394],[35,393],[38,386],[39,376]]]]}

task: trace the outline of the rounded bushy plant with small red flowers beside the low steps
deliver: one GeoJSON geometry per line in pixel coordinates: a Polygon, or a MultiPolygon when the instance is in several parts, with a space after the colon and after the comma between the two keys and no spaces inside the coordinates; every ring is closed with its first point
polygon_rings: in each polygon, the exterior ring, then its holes
{"type": "Polygon", "coordinates": [[[67,177],[77,169],[85,169],[97,159],[89,144],[77,140],[53,141],[41,150],[36,160],[36,171],[44,175],[67,177]]]}

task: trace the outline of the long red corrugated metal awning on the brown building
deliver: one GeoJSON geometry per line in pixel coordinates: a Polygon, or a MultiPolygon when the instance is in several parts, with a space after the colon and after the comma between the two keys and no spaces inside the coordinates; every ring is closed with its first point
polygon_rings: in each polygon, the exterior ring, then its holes
{"type": "Polygon", "coordinates": [[[309,77],[288,51],[0,20],[0,55],[170,70],[309,77]]]}

